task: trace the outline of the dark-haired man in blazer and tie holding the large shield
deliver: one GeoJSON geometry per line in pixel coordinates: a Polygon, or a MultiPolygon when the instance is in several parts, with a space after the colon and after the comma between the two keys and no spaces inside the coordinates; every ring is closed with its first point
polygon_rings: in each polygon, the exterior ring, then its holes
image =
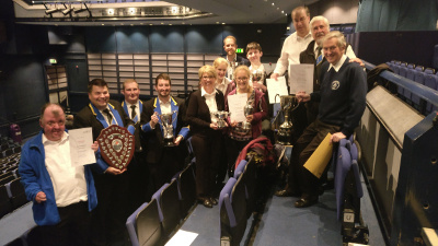
{"type": "MultiPolygon", "coordinates": [[[[132,121],[117,101],[110,99],[110,92],[103,79],[94,79],[88,84],[90,104],[73,118],[73,128],[91,127],[93,141],[111,125],[127,127],[134,133],[132,121]]],[[[99,155],[97,163],[108,166],[99,155]]],[[[92,213],[92,244],[107,245],[119,242],[126,235],[125,222],[128,215],[128,176],[126,169],[110,166],[105,172],[93,169],[99,204],[92,213]]]]}

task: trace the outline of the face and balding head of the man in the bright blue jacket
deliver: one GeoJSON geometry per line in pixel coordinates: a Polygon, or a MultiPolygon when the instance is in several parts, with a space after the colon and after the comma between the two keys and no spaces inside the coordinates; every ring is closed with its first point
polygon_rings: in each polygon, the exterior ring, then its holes
{"type": "Polygon", "coordinates": [[[48,106],[39,119],[44,136],[50,141],[59,141],[66,130],[66,115],[58,105],[48,106]]]}

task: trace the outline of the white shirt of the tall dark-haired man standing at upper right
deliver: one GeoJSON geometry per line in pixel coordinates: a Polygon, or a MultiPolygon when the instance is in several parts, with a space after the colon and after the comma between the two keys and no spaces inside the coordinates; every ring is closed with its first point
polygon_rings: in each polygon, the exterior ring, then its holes
{"type": "MultiPolygon", "coordinates": [[[[283,44],[281,55],[280,58],[278,58],[274,73],[283,75],[285,71],[289,69],[290,65],[299,65],[300,52],[304,50],[312,40],[313,37],[310,32],[304,37],[299,37],[297,35],[297,32],[288,36],[285,39],[285,43],[283,44]]],[[[289,78],[290,78],[290,70],[289,70],[289,78]]]]}

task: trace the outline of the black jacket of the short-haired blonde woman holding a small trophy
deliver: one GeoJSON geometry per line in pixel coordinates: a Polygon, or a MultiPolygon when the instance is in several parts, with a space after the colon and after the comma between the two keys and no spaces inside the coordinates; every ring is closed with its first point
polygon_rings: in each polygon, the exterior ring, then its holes
{"type": "MultiPolygon", "coordinates": [[[[201,96],[200,91],[201,90],[198,90],[192,93],[187,107],[186,121],[191,125],[191,132],[193,134],[208,137],[215,130],[210,128],[210,110],[208,109],[206,99],[201,96]]],[[[224,110],[226,108],[223,94],[219,90],[216,90],[216,105],[218,110],[224,110]]]]}

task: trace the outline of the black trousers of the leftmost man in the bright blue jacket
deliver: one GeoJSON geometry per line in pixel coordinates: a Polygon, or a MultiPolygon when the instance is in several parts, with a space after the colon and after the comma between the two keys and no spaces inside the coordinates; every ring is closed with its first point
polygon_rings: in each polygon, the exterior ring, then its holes
{"type": "Polygon", "coordinates": [[[61,219],[58,224],[41,226],[44,245],[88,245],[91,221],[88,201],[58,208],[58,212],[61,219]]]}

